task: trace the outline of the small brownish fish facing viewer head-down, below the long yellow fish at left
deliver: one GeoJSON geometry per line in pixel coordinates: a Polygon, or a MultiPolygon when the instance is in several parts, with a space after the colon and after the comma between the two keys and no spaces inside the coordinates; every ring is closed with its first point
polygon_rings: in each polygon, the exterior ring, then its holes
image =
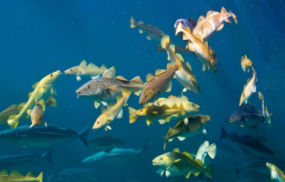
{"type": "Polygon", "coordinates": [[[38,126],[39,124],[43,123],[44,126],[47,126],[46,122],[43,121],[44,117],[44,110],[45,110],[45,102],[44,99],[41,99],[39,102],[37,99],[35,100],[36,105],[34,106],[33,110],[27,110],[27,114],[31,116],[32,126],[38,126]]]}

